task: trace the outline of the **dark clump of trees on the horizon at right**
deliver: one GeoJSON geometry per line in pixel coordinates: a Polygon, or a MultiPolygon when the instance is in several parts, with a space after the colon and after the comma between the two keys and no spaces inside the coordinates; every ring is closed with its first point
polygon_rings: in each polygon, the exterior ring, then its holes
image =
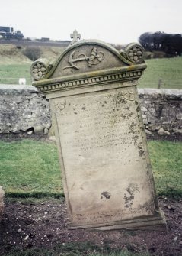
{"type": "Polygon", "coordinates": [[[139,37],[139,43],[148,51],[163,51],[168,57],[181,56],[182,34],[164,32],[145,32],[139,37]]]}

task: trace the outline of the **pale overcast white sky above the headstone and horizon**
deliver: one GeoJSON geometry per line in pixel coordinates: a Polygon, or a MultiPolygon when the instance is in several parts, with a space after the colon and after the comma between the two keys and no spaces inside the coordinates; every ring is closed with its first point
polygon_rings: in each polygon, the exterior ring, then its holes
{"type": "Polygon", "coordinates": [[[0,0],[0,26],[24,37],[137,42],[145,32],[182,34],[182,0],[0,0]]]}

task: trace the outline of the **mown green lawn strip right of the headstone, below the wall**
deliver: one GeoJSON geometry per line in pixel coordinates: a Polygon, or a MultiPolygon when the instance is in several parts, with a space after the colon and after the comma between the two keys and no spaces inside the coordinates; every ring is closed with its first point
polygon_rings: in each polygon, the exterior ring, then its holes
{"type": "Polygon", "coordinates": [[[149,141],[158,195],[182,196],[182,143],[149,141]]]}

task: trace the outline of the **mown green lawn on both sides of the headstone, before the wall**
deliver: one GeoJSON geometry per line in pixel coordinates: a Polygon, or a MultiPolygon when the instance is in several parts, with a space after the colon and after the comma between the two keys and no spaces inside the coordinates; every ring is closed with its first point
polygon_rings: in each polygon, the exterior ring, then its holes
{"type": "MultiPolygon", "coordinates": [[[[182,196],[182,144],[149,141],[156,189],[159,195],[182,196]]],[[[0,142],[0,184],[6,196],[62,196],[55,144],[24,140],[0,142]]]]}

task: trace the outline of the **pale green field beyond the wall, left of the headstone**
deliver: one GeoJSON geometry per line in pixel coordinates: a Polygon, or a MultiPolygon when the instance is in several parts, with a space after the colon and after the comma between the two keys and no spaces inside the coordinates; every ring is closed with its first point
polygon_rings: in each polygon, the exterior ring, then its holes
{"type": "Polygon", "coordinates": [[[0,84],[18,84],[19,78],[26,78],[27,84],[31,84],[30,63],[0,64],[0,84]]]}

